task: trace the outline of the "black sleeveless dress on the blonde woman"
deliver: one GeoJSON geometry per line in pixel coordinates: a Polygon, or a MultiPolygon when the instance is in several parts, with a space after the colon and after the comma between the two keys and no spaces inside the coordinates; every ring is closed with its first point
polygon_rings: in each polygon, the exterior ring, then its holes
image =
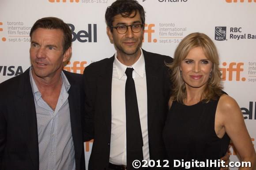
{"type": "MultiPolygon", "coordinates": [[[[204,161],[207,166],[207,159],[208,163],[210,160],[216,160],[218,163],[218,159],[226,154],[230,138],[225,133],[220,139],[214,129],[217,104],[218,100],[211,100],[208,103],[199,102],[192,106],[173,101],[163,130],[170,169],[184,170],[185,165],[179,168],[173,167],[173,165],[178,166],[179,161],[182,165],[182,159],[184,163],[190,161],[190,166],[195,160],[204,161]]],[[[220,168],[190,167],[190,170],[198,169],[216,170],[220,168]]]]}

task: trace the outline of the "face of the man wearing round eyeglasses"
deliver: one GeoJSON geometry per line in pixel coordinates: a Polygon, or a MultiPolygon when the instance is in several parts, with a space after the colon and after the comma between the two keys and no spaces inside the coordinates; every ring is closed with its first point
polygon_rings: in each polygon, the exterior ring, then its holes
{"type": "MultiPolygon", "coordinates": [[[[133,12],[129,17],[122,17],[122,15],[116,15],[113,20],[113,26],[121,26],[121,25],[132,25],[132,24],[142,24],[141,18],[139,15],[139,11],[137,11],[136,15],[133,12]],[[133,17],[134,16],[134,17],[133,17]]],[[[128,27],[128,30],[124,34],[120,34],[117,32],[117,29],[111,29],[107,27],[107,32],[109,35],[109,39],[113,41],[115,46],[117,47],[117,56],[140,56],[140,50],[142,41],[143,41],[143,33],[144,30],[141,29],[138,33],[132,32],[131,27],[128,27]]]]}

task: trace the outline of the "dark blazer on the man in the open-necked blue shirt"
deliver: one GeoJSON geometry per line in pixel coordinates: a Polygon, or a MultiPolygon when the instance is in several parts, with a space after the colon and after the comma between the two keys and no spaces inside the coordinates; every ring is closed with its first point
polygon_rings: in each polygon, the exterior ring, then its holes
{"type": "MultiPolygon", "coordinates": [[[[68,93],[75,166],[85,170],[82,122],[82,75],[64,71],[71,85],[68,93]]],[[[38,170],[39,149],[34,96],[29,69],[0,84],[0,169],[38,170]]]]}

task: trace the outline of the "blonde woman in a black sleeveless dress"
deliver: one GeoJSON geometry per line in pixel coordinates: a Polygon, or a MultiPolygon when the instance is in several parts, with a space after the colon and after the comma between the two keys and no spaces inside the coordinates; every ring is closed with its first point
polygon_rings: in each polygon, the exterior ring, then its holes
{"type": "Polygon", "coordinates": [[[241,161],[251,162],[250,168],[240,170],[252,170],[256,158],[252,141],[240,107],[222,91],[218,52],[211,39],[203,33],[189,34],[168,66],[173,92],[163,138],[170,164],[188,161],[190,169],[200,169],[195,167],[197,160],[205,163],[201,169],[207,169],[208,159],[217,162],[208,169],[219,169],[218,159],[227,152],[231,139],[241,161]]]}

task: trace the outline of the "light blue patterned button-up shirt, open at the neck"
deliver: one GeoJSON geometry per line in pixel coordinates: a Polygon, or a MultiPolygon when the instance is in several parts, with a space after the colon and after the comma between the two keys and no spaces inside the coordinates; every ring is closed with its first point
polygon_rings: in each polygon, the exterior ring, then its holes
{"type": "Polygon", "coordinates": [[[60,96],[56,109],[53,110],[42,99],[31,69],[30,83],[34,94],[38,124],[39,169],[75,170],[75,149],[68,104],[68,90],[70,89],[68,79],[61,72],[60,96]]]}

